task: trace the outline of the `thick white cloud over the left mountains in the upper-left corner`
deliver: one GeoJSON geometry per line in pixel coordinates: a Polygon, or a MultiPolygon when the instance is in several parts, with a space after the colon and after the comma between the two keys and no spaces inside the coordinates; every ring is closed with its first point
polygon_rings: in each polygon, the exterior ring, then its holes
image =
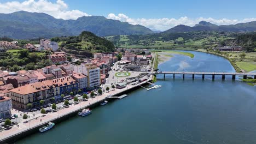
{"type": "Polygon", "coordinates": [[[13,13],[15,11],[29,11],[37,13],[46,13],[57,19],[77,19],[81,16],[89,16],[83,11],[69,10],[68,5],[62,0],[50,2],[48,0],[26,0],[24,2],[11,1],[0,3],[0,13],[13,13]]]}

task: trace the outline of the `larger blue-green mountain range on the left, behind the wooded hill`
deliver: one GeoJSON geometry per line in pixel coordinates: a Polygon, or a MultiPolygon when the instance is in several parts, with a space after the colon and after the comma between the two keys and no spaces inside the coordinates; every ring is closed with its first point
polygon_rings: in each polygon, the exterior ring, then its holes
{"type": "Polygon", "coordinates": [[[18,11],[0,14],[0,37],[14,39],[52,38],[63,35],[78,35],[90,31],[98,36],[154,33],[141,25],[107,19],[103,16],[83,16],[77,20],[55,19],[44,13],[18,11]]]}

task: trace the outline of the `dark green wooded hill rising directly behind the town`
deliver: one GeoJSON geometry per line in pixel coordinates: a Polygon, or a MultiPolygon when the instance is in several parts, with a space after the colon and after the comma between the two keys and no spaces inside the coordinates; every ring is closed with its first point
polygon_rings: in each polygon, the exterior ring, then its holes
{"type": "Polygon", "coordinates": [[[91,32],[82,32],[78,36],[55,37],[52,41],[57,41],[68,53],[86,55],[84,53],[93,52],[113,52],[115,47],[110,41],[97,37],[91,32]]]}

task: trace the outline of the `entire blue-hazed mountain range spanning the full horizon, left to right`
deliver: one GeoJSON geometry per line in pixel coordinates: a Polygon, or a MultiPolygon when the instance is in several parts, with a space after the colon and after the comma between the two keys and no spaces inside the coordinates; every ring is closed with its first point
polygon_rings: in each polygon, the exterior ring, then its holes
{"type": "Polygon", "coordinates": [[[224,31],[224,32],[253,32],[256,31],[256,21],[238,23],[236,25],[214,25],[201,21],[190,27],[178,25],[167,31],[152,31],[141,25],[131,25],[127,22],[107,19],[104,16],[82,16],[77,20],[55,19],[44,13],[30,13],[18,11],[11,14],[0,14],[0,37],[13,39],[52,38],[61,36],[78,35],[83,31],[89,31],[97,36],[109,35],[145,35],[145,34],[169,34],[194,31],[224,31]]]}

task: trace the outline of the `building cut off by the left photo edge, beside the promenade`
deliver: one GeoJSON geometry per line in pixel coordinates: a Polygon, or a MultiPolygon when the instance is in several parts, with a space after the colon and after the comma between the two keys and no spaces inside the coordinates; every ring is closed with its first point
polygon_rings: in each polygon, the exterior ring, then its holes
{"type": "Polygon", "coordinates": [[[5,97],[4,94],[0,93],[0,119],[10,116],[12,108],[11,98],[5,97]]]}

